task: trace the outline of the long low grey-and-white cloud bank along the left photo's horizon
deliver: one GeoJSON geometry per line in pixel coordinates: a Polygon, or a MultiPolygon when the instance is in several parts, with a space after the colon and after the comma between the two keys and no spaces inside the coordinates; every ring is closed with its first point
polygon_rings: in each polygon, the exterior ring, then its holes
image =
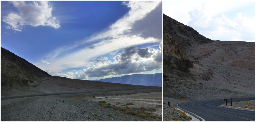
{"type": "MultiPolygon", "coordinates": [[[[163,43],[159,45],[162,49],[163,43]]],[[[116,55],[114,62],[107,57],[95,58],[94,63],[84,68],[83,71],[72,71],[67,73],[46,70],[51,75],[65,76],[76,79],[106,78],[122,76],[124,74],[135,74],[162,69],[162,50],[149,48],[138,49],[137,47],[124,48],[123,52],[116,55]],[[72,75],[72,76],[71,76],[72,75]]]]}

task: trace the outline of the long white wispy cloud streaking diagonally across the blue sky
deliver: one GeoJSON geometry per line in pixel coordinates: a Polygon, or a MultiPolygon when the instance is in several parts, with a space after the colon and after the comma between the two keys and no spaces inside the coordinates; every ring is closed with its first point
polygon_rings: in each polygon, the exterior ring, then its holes
{"type": "MultiPolygon", "coordinates": [[[[74,67],[88,67],[94,64],[94,62],[90,62],[90,60],[95,57],[100,57],[104,54],[134,45],[162,42],[162,39],[154,37],[144,38],[140,35],[125,34],[132,29],[132,26],[136,21],[146,17],[148,13],[154,10],[161,3],[161,1],[130,1],[129,3],[126,3],[125,5],[131,8],[129,13],[110,25],[108,29],[92,35],[91,37],[88,37],[75,45],[69,45],[56,49],[50,53],[47,59],[52,63],[51,66],[44,65],[40,62],[37,63],[36,66],[43,70],[51,69],[51,71],[55,72],[74,67]],[[88,45],[89,42],[94,44],[88,45]],[[86,48],[60,56],[60,54],[81,45],[84,45],[86,48]]],[[[162,11],[159,12],[159,14],[162,15],[162,11]]]]}

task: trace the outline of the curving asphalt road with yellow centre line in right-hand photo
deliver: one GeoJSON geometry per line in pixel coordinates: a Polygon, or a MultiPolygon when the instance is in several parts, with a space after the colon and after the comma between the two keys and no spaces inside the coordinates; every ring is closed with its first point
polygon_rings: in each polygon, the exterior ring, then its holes
{"type": "MultiPolygon", "coordinates": [[[[233,103],[244,100],[255,100],[255,97],[232,99],[233,103]]],[[[177,106],[201,121],[255,121],[255,111],[219,107],[223,103],[226,103],[224,99],[217,99],[179,103],[177,106]]]]}

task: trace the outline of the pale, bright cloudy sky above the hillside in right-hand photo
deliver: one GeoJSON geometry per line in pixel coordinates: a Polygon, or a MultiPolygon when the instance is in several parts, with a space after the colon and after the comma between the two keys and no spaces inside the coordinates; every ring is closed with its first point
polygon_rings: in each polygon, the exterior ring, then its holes
{"type": "Polygon", "coordinates": [[[255,42],[255,1],[163,1],[163,13],[212,40],[255,42]]]}

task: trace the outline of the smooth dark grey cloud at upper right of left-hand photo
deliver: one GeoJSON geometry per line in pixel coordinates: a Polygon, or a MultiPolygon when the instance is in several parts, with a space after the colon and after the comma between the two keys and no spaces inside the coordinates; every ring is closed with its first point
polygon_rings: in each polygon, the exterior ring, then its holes
{"type": "Polygon", "coordinates": [[[162,39],[163,35],[163,3],[159,4],[154,10],[141,20],[136,21],[129,34],[139,35],[141,37],[154,37],[162,39]]]}

